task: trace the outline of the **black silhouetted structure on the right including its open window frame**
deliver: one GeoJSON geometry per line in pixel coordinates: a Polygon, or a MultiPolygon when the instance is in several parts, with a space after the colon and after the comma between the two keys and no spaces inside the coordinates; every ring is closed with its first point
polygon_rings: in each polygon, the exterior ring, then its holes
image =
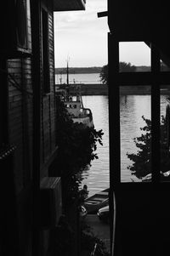
{"type": "MultiPolygon", "coordinates": [[[[111,255],[169,253],[170,185],[160,174],[160,87],[170,84],[160,60],[170,65],[169,14],[165,2],[108,0],[111,255]],[[119,72],[121,42],[144,42],[150,47],[150,72],[119,72]],[[148,183],[122,183],[120,160],[119,87],[151,87],[151,173],[148,183]]],[[[102,16],[102,14],[100,14],[102,16]]]]}

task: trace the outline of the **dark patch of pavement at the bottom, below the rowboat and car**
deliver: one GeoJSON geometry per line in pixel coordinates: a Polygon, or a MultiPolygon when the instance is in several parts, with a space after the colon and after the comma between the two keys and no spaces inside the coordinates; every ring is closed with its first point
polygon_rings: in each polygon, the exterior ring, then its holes
{"type": "Polygon", "coordinates": [[[105,247],[110,253],[111,241],[110,241],[110,225],[104,221],[99,220],[97,214],[87,214],[84,221],[92,228],[94,236],[99,237],[105,242],[105,247]]]}

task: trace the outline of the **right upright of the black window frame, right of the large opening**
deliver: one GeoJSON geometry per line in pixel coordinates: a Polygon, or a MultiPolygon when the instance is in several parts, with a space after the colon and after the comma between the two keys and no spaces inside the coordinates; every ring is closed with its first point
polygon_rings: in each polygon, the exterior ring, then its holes
{"type": "Polygon", "coordinates": [[[152,182],[160,181],[160,54],[154,45],[151,45],[151,169],[152,182]]]}

